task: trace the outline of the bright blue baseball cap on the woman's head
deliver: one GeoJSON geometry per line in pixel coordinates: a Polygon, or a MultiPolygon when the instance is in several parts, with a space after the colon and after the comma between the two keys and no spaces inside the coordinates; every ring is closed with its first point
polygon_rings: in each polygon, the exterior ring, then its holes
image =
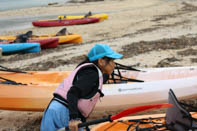
{"type": "Polygon", "coordinates": [[[96,44],[88,53],[90,61],[95,61],[103,57],[120,59],[123,55],[116,53],[106,44],[96,44]]]}

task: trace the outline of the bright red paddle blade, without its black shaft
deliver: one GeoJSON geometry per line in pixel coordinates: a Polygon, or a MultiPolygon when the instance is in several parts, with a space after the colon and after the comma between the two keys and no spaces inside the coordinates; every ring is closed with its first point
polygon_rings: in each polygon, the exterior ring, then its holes
{"type": "Polygon", "coordinates": [[[168,107],[172,107],[172,105],[171,104],[155,104],[155,105],[143,105],[143,106],[132,107],[116,115],[111,116],[111,120],[116,120],[127,115],[135,114],[135,113],[142,112],[142,111],[147,111],[150,109],[159,109],[159,108],[168,108],[168,107]]]}

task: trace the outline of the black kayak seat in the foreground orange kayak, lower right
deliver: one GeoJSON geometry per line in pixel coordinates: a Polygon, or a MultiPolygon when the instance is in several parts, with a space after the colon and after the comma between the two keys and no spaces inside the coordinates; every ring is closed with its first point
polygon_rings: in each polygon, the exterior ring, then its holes
{"type": "Polygon", "coordinates": [[[196,107],[183,104],[178,101],[172,89],[169,91],[168,103],[174,105],[167,109],[166,124],[167,128],[172,131],[196,131],[197,119],[192,118],[190,111],[197,111],[196,107]],[[186,110],[185,107],[190,107],[191,110],[186,110]]]}

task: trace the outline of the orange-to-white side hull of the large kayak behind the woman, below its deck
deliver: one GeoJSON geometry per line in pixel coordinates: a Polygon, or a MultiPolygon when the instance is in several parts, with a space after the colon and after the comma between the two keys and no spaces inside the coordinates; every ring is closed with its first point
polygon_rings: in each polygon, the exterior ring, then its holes
{"type": "MultiPolygon", "coordinates": [[[[179,99],[197,98],[197,77],[144,83],[104,84],[105,96],[94,112],[118,111],[128,107],[167,103],[168,91],[173,89],[179,99]]],[[[43,111],[58,85],[0,84],[0,109],[43,111]]],[[[93,113],[94,113],[93,112],[93,113]]]]}

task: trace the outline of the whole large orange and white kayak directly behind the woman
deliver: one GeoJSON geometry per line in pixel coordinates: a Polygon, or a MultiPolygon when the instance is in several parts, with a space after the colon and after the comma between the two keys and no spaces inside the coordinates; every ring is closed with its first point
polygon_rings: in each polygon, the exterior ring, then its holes
{"type": "MultiPolygon", "coordinates": [[[[136,79],[143,78],[145,82],[105,84],[103,86],[105,96],[98,101],[94,111],[118,111],[138,105],[167,103],[170,88],[179,99],[197,98],[197,67],[152,68],[146,71],[135,72],[136,74],[133,75],[136,79]]],[[[58,83],[69,73],[0,72],[2,78],[27,84],[13,85],[12,82],[6,84],[7,81],[1,79],[0,109],[43,111],[58,83]]]]}

